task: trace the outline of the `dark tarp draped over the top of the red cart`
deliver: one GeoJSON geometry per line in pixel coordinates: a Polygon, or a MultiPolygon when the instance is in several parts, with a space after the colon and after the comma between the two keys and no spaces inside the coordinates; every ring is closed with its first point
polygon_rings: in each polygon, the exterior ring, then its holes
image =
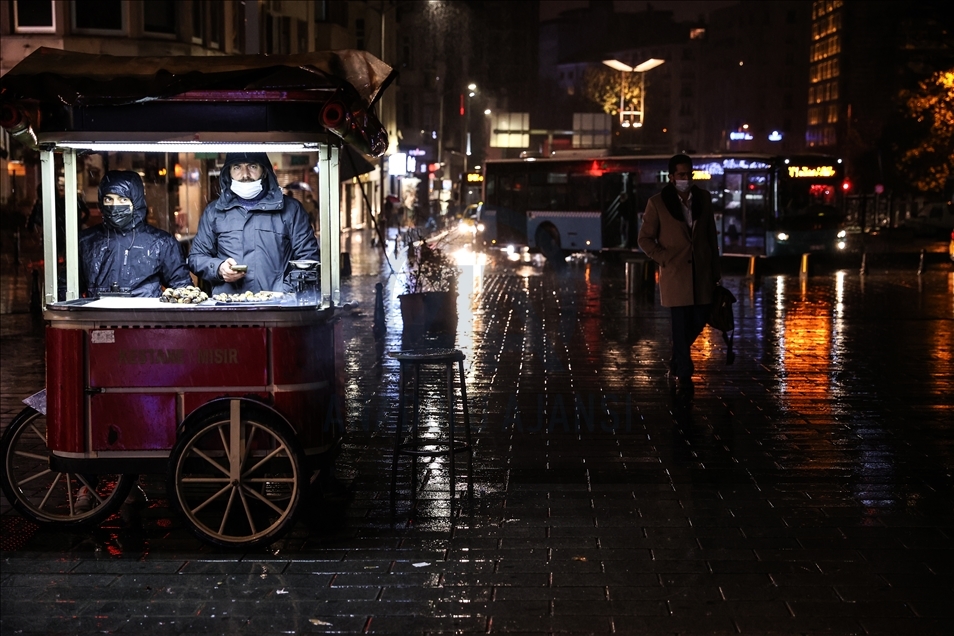
{"type": "MultiPolygon", "coordinates": [[[[43,133],[45,126],[71,130],[83,125],[84,113],[108,112],[110,107],[121,117],[117,107],[156,102],[257,102],[275,108],[281,107],[277,102],[304,103],[312,109],[308,111],[311,121],[316,119],[317,106],[325,129],[365,154],[380,155],[386,149],[387,135],[369,109],[395,76],[389,65],[356,50],[119,57],[39,48],[0,78],[0,104],[5,107],[4,127],[9,127],[10,108],[16,108],[37,133],[43,133]],[[332,101],[337,108],[328,107],[332,101]]],[[[196,108],[201,107],[193,107],[193,111],[196,108]]],[[[270,121],[274,120],[288,118],[273,115],[270,121]]],[[[155,125],[143,122],[144,126],[150,124],[155,125]]]]}

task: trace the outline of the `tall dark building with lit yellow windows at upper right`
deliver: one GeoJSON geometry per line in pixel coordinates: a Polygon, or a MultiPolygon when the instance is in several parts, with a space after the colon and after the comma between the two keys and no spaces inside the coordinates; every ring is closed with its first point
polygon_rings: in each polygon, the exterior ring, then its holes
{"type": "Polygon", "coordinates": [[[898,148],[911,143],[904,94],[954,68],[954,8],[815,0],[810,38],[806,146],[845,158],[852,193],[908,189],[895,172],[898,148]]]}

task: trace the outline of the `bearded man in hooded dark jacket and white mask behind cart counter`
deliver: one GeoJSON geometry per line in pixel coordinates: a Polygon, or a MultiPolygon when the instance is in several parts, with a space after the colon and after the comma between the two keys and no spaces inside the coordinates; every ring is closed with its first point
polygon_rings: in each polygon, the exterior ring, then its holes
{"type": "Polygon", "coordinates": [[[308,213],[282,193],[265,153],[229,153],[219,183],[222,194],[199,220],[189,269],[214,294],[293,291],[288,262],[318,260],[308,213]]]}

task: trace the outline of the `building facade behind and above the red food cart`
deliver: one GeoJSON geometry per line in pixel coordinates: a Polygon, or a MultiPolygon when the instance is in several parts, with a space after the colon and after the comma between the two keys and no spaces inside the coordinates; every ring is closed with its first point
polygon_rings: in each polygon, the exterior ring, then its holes
{"type": "MultiPolygon", "coordinates": [[[[382,0],[292,2],[288,0],[2,0],[0,1],[0,74],[40,47],[118,56],[212,56],[291,54],[329,49],[364,49],[393,64],[397,50],[395,8],[382,0]]],[[[377,114],[397,146],[394,91],[385,91],[377,114]]],[[[127,155],[132,153],[125,153],[127,155]]],[[[272,157],[283,185],[303,196],[316,187],[315,161],[272,157]]],[[[81,180],[95,203],[95,175],[128,168],[142,174],[150,220],[180,235],[191,234],[215,190],[216,161],[176,154],[156,157],[91,157],[91,175],[81,180]],[[108,166],[105,164],[109,164],[108,166]]],[[[387,194],[386,161],[375,170],[342,184],[342,227],[364,227],[387,194]]],[[[35,199],[38,157],[0,138],[0,204],[4,214],[24,214],[35,199]]],[[[305,201],[307,203],[307,201],[305,201]]]]}

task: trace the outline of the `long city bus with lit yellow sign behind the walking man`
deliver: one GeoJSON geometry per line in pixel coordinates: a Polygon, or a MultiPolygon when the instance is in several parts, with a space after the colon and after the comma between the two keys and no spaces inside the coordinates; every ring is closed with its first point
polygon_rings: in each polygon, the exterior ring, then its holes
{"type": "MultiPolygon", "coordinates": [[[[632,250],[669,157],[594,156],[484,164],[483,240],[567,252],[632,250]]],[[[693,156],[693,183],[712,196],[723,254],[779,256],[845,248],[843,166],[822,155],[693,156]]]]}

